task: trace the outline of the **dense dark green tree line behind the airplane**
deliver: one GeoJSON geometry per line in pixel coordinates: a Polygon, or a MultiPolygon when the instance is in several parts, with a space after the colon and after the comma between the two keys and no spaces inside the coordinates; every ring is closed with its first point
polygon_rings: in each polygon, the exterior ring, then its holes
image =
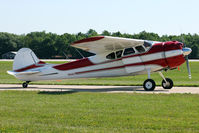
{"type": "Polygon", "coordinates": [[[41,59],[50,58],[82,58],[91,56],[92,53],[75,49],[70,46],[71,43],[92,36],[115,36],[133,39],[143,39],[152,41],[180,41],[184,42],[187,47],[192,49],[189,58],[199,58],[199,35],[198,34],[181,34],[181,35],[162,35],[142,31],[138,34],[127,34],[118,32],[109,32],[104,30],[98,34],[95,30],[90,29],[86,33],[79,32],[77,34],[65,33],[57,35],[55,33],[31,32],[28,34],[16,35],[7,32],[0,32],[0,58],[2,54],[9,51],[18,51],[22,47],[32,49],[41,59]]]}

